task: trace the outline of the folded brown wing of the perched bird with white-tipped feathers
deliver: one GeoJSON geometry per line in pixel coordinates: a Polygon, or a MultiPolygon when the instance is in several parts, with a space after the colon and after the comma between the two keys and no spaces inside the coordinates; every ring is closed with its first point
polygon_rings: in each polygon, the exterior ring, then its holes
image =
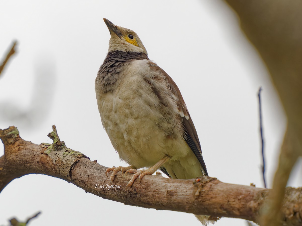
{"type": "MultiPolygon", "coordinates": [[[[162,70],[162,68],[158,67],[155,63],[153,63],[151,61],[149,64],[153,69],[160,70],[162,72],[162,74],[164,74],[165,77],[167,78],[168,83],[171,85],[172,92],[174,93],[175,100],[178,104],[179,115],[182,117],[182,124],[183,124],[184,130],[185,130],[184,139],[187,142],[187,144],[189,145],[189,147],[191,148],[191,150],[194,152],[194,155],[196,156],[198,161],[200,162],[200,164],[204,170],[205,176],[208,176],[207,167],[204,163],[204,159],[202,158],[201,146],[199,143],[198,135],[197,135],[195,126],[193,124],[193,121],[190,117],[190,114],[188,112],[185,101],[182,97],[182,94],[180,93],[177,85],[172,80],[172,78],[164,70],[162,70]]],[[[166,171],[163,171],[163,172],[165,174],[167,174],[166,171]]]]}

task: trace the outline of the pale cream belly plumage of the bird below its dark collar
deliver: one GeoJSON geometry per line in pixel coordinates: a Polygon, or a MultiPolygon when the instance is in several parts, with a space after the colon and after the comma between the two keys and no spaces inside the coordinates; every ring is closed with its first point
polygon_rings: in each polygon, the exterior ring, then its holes
{"type": "Polygon", "coordinates": [[[156,109],[160,102],[143,77],[125,72],[117,89],[103,93],[97,101],[102,124],[120,159],[142,168],[153,166],[168,155],[172,159],[163,166],[172,177],[202,175],[201,165],[182,133],[172,139],[162,129],[171,125],[156,109]]]}

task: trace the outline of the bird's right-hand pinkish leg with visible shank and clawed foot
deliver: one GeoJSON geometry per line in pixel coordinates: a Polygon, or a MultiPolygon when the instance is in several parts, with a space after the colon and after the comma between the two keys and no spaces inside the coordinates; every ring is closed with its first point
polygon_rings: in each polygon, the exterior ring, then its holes
{"type": "Polygon", "coordinates": [[[137,177],[139,177],[139,180],[141,180],[143,178],[143,176],[145,176],[145,175],[152,175],[152,174],[154,174],[155,171],[158,170],[169,159],[171,159],[171,157],[165,156],[164,158],[162,158],[161,160],[159,160],[154,166],[150,167],[149,169],[140,169],[140,170],[136,170],[136,169],[133,169],[133,168],[132,169],[128,169],[125,172],[125,174],[127,174],[127,173],[134,173],[134,174],[133,174],[133,177],[131,178],[131,180],[126,185],[126,189],[127,189],[127,187],[131,187],[132,186],[134,180],[137,177]]]}

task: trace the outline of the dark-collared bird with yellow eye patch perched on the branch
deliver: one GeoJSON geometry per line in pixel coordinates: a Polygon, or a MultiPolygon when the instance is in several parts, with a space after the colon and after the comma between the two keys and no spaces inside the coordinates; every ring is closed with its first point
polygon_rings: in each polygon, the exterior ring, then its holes
{"type": "MultiPolygon", "coordinates": [[[[96,99],[114,149],[130,165],[108,168],[111,183],[119,171],[133,174],[126,189],[158,169],[175,179],[208,176],[195,126],[175,82],[148,58],[137,33],[104,22],[111,37],[95,79],[96,99]]],[[[195,216],[203,225],[209,222],[210,216],[195,216]]]]}

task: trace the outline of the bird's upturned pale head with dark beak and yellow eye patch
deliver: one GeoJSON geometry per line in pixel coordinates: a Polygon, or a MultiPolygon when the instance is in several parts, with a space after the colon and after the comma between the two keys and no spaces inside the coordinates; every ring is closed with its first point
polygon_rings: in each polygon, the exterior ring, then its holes
{"type": "Polygon", "coordinates": [[[111,35],[108,49],[109,52],[143,52],[148,55],[147,50],[140,38],[137,36],[137,33],[130,29],[116,26],[105,18],[104,21],[111,35]]]}

